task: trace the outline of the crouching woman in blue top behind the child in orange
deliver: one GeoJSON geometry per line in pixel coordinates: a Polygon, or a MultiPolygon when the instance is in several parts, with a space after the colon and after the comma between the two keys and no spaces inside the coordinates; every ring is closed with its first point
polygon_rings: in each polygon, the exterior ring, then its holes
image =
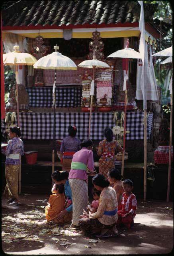
{"type": "Polygon", "coordinates": [[[51,190],[52,193],[56,193],[57,184],[63,184],[66,197],[64,209],[61,210],[61,212],[52,220],[52,222],[55,224],[65,224],[72,220],[72,193],[68,181],[68,175],[69,174],[66,171],[55,171],[51,174],[51,178],[53,182],[55,182],[51,190]]]}

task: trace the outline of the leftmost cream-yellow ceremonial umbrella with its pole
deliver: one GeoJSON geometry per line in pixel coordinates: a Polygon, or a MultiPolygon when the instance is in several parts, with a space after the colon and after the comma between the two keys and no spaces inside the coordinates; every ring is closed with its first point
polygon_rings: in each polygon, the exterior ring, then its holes
{"type": "MultiPolygon", "coordinates": [[[[18,84],[20,83],[19,81],[19,74],[18,74],[18,66],[32,66],[37,60],[36,58],[25,52],[20,52],[19,51],[19,46],[16,44],[14,47],[14,52],[9,52],[3,54],[3,63],[4,65],[12,65],[16,66],[16,72],[15,72],[15,77],[16,77],[16,101],[17,101],[17,120],[18,120],[18,126],[20,126],[20,118],[19,118],[19,90],[18,90],[18,84]]],[[[20,158],[21,160],[21,158],[20,158]]],[[[19,194],[21,194],[21,161],[20,161],[20,169],[19,169],[19,194]]]]}

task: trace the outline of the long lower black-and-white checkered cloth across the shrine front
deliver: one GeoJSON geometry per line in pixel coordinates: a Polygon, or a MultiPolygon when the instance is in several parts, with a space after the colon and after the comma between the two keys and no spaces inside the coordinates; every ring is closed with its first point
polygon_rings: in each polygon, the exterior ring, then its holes
{"type": "MultiPolygon", "coordinates": [[[[56,113],[56,139],[63,139],[67,136],[68,126],[75,125],[77,127],[77,137],[80,140],[88,138],[88,128],[89,128],[89,116],[90,113],[56,113]]],[[[144,126],[143,112],[128,112],[127,113],[127,130],[130,134],[126,135],[127,140],[140,140],[143,139],[144,126]]],[[[20,127],[23,139],[32,140],[43,140],[43,139],[53,139],[53,123],[54,114],[53,113],[20,113],[20,127]]],[[[149,132],[151,132],[152,123],[147,126],[147,133],[149,138],[149,132]]],[[[92,140],[103,140],[104,128],[113,128],[115,124],[113,123],[112,113],[92,113],[91,119],[91,139],[92,140]]]]}

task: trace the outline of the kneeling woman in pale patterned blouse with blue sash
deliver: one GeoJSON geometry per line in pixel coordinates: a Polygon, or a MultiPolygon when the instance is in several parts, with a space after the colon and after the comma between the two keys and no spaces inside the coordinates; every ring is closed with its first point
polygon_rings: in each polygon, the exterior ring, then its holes
{"type": "Polygon", "coordinates": [[[96,212],[79,220],[82,233],[101,233],[102,230],[108,231],[109,228],[113,228],[114,232],[118,233],[114,225],[118,219],[115,190],[109,186],[109,181],[102,174],[94,176],[92,183],[94,188],[101,191],[99,206],[96,212]]]}

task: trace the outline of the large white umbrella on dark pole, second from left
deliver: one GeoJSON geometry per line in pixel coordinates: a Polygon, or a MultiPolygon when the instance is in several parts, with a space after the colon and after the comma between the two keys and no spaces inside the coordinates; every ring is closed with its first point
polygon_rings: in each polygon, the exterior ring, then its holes
{"type": "Polygon", "coordinates": [[[53,126],[53,153],[52,153],[52,172],[54,172],[55,166],[55,122],[56,122],[56,95],[55,95],[55,88],[56,88],[56,70],[77,70],[77,66],[70,58],[64,56],[59,50],[59,46],[57,44],[54,46],[55,52],[48,54],[47,56],[43,56],[35,64],[33,65],[34,68],[41,68],[41,69],[54,69],[55,70],[55,80],[53,83],[53,108],[54,108],[54,126],[53,126]]]}

